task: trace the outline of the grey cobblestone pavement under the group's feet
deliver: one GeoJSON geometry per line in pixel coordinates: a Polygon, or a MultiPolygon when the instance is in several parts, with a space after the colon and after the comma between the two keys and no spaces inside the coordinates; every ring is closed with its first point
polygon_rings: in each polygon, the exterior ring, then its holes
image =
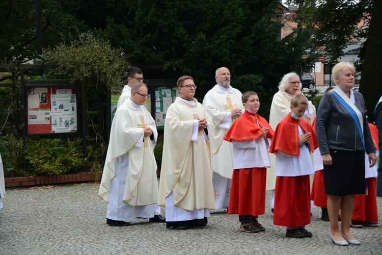
{"type": "MultiPolygon", "coordinates": [[[[265,232],[239,231],[237,215],[213,211],[203,228],[166,230],[165,223],[135,219],[106,226],[107,203],[99,184],[8,189],[0,210],[0,254],[382,254],[382,227],[351,228],[361,245],[337,246],[329,222],[312,209],[312,238],[285,237],[269,209],[259,217],[265,232]]],[[[269,192],[267,192],[267,205],[269,192]]],[[[379,218],[382,198],[378,197],[379,218]]],[[[164,215],[164,210],[162,209],[164,215]]]]}

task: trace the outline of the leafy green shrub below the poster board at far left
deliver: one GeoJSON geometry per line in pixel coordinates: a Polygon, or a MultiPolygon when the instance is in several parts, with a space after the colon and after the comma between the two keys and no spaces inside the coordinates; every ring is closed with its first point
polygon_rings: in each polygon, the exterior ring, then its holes
{"type": "Polygon", "coordinates": [[[82,138],[26,139],[26,175],[63,175],[83,171],[85,165],[82,138]]]}

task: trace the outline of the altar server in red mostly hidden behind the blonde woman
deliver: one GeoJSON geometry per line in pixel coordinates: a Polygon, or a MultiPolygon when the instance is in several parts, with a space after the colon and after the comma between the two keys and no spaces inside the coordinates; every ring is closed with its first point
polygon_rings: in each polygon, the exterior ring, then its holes
{"type": "MultiPolygon", "coordinates": [[[[378,130],[375,125],[369,123],[371,138],[375,144],[375,156],[379,155],[378,130]]],[[[365,180],[367,184],[367,195],[356,194],[353,215],[351,216],[352,227],[379,226],[377,208],[377,169],[378,165],[369,166],[369,157],[365,153],[365,180]]]]}

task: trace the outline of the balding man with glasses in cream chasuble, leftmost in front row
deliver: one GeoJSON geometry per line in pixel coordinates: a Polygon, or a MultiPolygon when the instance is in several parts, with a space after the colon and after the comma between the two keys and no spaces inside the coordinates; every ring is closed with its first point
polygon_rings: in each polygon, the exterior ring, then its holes
{"type": "Polygon", "coordinates": [[[129,220],[149,218],[166,222],[160,215],[154,146],[157,131],[143,107],[147,86],[136,83],[131,98],[117,109],[110,133],[98,195],[108,201],[106,224],[128,226],[129,220]]]}

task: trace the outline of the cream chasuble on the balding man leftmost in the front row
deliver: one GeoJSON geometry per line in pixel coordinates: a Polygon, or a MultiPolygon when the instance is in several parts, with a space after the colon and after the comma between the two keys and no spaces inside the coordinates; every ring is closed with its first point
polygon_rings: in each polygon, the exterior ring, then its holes
{"type": "Polygon", "coordinates": [[[155,121],[150,113],[141,106],[137,111],[130,100],[118,108],[110,132],[105,166],[98,195],[109,201],[110,181],[115,177],[115,162],[118,157],[128,154],[128,172],[123,194],[123,201],[130,206],[146,206],[157,203],[158,180],[154,145],[149,137],[143,138],[144,127],[150,126],[156,142],[155,121]],[[134,147],[144,139],[141,148],[134,147]]]}

